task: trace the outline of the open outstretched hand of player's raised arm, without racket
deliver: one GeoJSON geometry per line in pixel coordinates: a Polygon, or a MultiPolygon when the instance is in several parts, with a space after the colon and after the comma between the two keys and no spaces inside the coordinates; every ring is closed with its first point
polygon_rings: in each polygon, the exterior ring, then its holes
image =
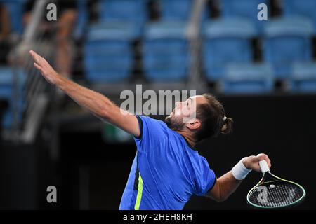
{"type": "Polygon", "coordinates": [[[34,59],[34,67],[41,72],[42,76],[44,76],[48,83],[55,85],[60,79],[60,75],[53,69],[51,64],[49,64],[44,57],[41,57],[41,55],[38,55],[33,50],[30,50],[29,54],[34,59]]]}

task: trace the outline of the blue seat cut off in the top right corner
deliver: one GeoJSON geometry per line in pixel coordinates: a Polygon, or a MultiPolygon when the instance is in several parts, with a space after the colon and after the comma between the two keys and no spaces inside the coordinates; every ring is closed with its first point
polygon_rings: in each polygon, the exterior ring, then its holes
{"type": "Polygon", "coordinates": [[[316,1],[315,0],[284,0],[283,1],[285,16],[301,16],[312,20],[316,30],[316,1]]]}

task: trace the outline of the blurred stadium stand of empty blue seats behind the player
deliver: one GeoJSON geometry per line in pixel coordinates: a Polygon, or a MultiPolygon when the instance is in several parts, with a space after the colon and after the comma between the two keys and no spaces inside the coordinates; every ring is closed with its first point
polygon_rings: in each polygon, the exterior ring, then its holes
{"type": "MultiPolygon", "coordinates": [[[[8,7],[12,32],[16,34],[24,31],[24,2],[0,0],[8,7]]],[[[77,24],[72,35],[79,43],[83,78],[88,83],[129,83],[136,70],[140,81],[188,82],[193,62],[198,68],[195,76],[202,76],[197,82],[220,84],[223,94],[316,91],[312,42],[316,1],[302,4],[299,0],[284,0],[278,5],[275,0],[219,0],[215,16],[211,15],[211,7],[216,5],[212,1],[201,12],[197,54],[192,54],[192,39],[187,32],[195,1],[97,0],[93,8],[98,18],[93,22],[88,2],[77,1],[77,24]],[[257,19],[259,3],[268,5],[268,22],[257,19]],[[275,6],[281,6],[278,18],[270,16],[275,6]],[[156,17],[150,14],[153,11],[156,17]],[[194,60],[197,55],[199,59],[194,60]],[[282,85],[275,85],[279,81],[282,85]],[[283,85],[287,88],[282,89],[283,85]]],[[[0,72],[1,97],[10,101],[10,69],[2,68],[0,72]]],[[[6,127],[12,124],[8,111],[6,127]]]]}

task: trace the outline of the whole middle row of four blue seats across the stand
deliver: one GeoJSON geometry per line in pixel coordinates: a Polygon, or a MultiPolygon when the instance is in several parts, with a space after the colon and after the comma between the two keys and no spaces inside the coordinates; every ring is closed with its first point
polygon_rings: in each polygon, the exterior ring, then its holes
{"type": "MultiPolygon", "coordinates": [[[[190,42],[186,31],[185,23],[181,22],[153,24],[145,29],[142,56],[146,77],[180,79],[187,76],[190,42]],[[152,75],[154,73],[155,76],[152,75]]],[[[256,33],[251,23],[242,19],[206,22],[201,34],[201,60],[206,78],[209,81],[223,78],[225,64],[253,62],[251,40],[256,33]]],[[[281,18],[265,26],[262,38],[263,62],[272,64],[275,78],[287,79],[291,64],[312,60],[312,34],[312,24],[305,18],[281,18]]],[[[117,76],[117,79],[129,76],[134,64],[133,48],[129,41],[119,38],[119,35],[107,35],[102,28],[91,29],[84,48],[88,77],[96,69],[103,69],[98,73],[103,71],[104,81],[114,80],[110,78],[112,76],[117,76]],[[123,70],[124,76],[121,75],[123,70]]]]}

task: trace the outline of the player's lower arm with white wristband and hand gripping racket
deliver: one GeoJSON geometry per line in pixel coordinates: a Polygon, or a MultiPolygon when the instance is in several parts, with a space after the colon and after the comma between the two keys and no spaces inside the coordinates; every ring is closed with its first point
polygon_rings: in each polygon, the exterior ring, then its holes
{"type": "Polygon", "coordinates": [[[258,154],[256,156],[251,155],[249,157],[243,158],[232,170],[220,178],[217,179],[213,189],[209,191],[205,196],[211,197],[213,200],[218,202],[222,202],[226,200],[235,190],[238,188],[240,183],[242,183],[242,173],[244,176],[247,172],[251,170],[255,170],[257,172],[261,172],[259,161],[266,160],[268,162],[269,167],[271,167],[270,159],[268,155],[263,153],[258,154]],[[241,164],[242,163],[242,164],[241,164]]]}

